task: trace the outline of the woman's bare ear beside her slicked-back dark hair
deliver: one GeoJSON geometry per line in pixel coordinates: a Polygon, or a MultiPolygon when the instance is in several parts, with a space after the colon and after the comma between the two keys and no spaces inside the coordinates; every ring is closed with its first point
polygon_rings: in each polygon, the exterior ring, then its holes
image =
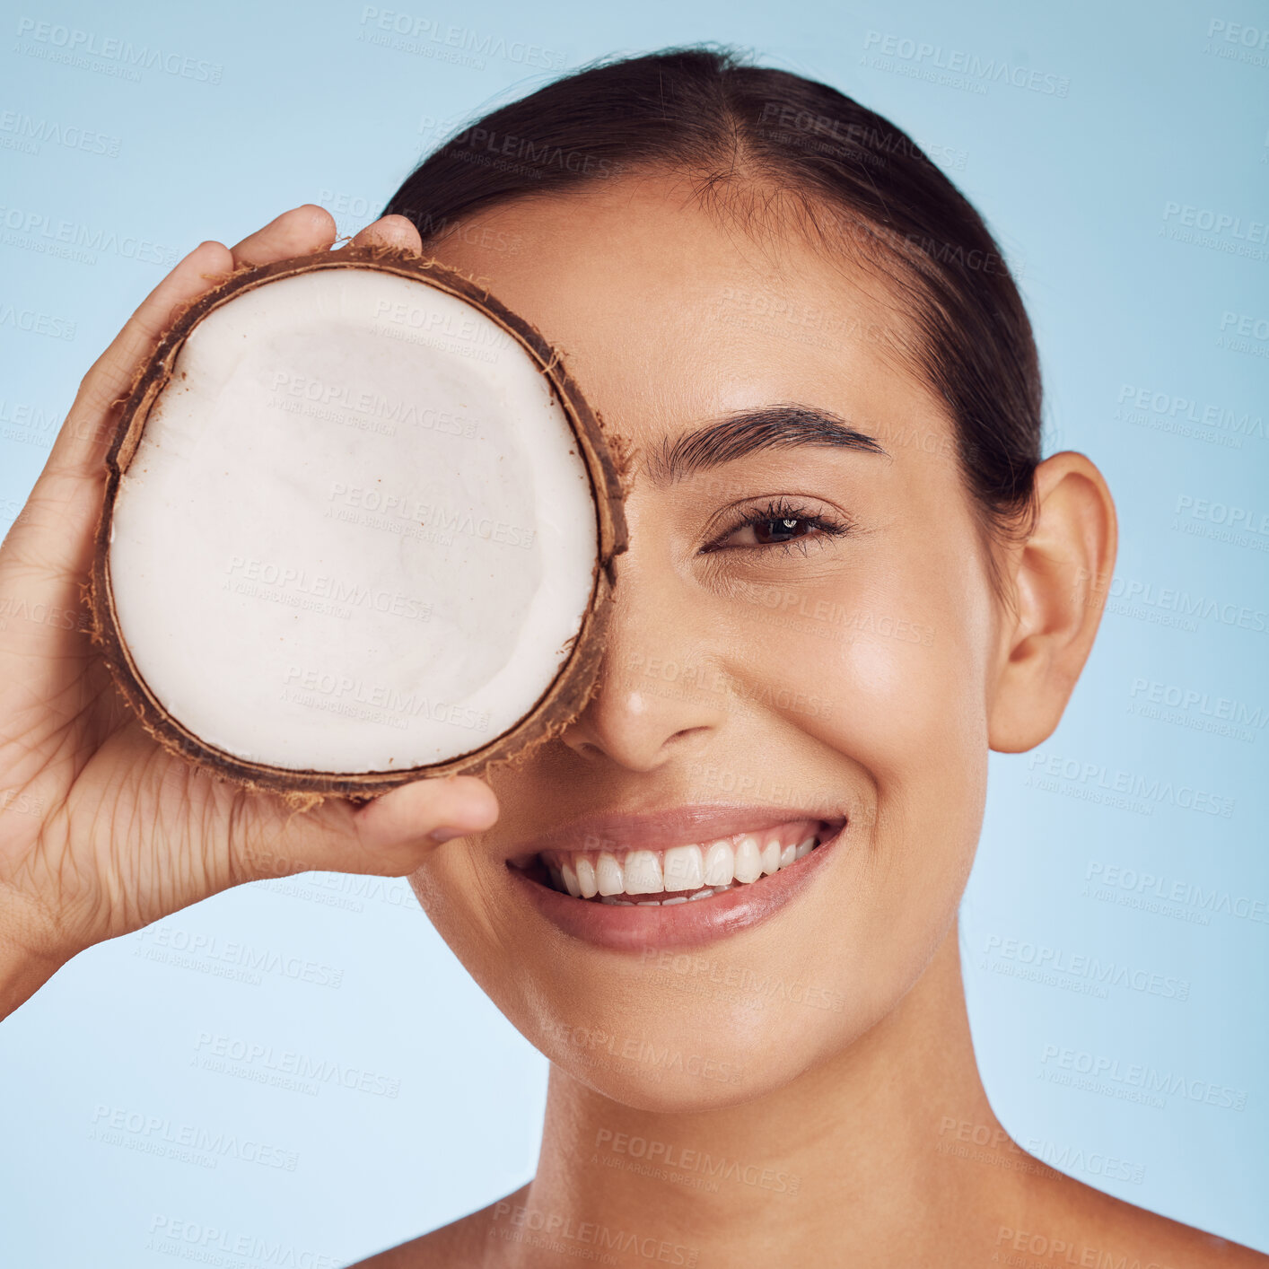
{"type": "Polygon", "coordinates": [[[1101,622],[1119,530],[1101,472],[1063,450],[1036,468],[1034,532],[1010,552],[987,741],[1022,754],[1047,740],[1071,698],[1101,622]]]}

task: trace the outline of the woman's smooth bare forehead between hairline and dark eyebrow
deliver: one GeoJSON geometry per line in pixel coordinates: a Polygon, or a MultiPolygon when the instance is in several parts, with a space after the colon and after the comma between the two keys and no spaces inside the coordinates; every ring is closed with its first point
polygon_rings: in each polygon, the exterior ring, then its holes
{"type": "Polygon", "coordinates": [[[760,222],[627,178],[477,212],[428,250],[537,326],[640,449],[773,402],[830,409],[887,448],[914,426],[949,435],[886,286],[760,222]]]}

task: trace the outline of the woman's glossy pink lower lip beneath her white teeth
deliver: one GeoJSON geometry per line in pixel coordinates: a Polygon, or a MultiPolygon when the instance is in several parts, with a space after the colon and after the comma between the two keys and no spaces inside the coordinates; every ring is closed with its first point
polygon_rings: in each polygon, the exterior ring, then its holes
{"type": "Polygon", "coordinates": [[[774,916],[820,873],[845,831],[846,826],[843,826],[808,855],[760,881],[669,907],[623,907],[574,898],[533,881],[516,868],[509,867],[508,872],[513,883],[548,921],[585,943],[615,952],[700,947],[774,916]]]}

